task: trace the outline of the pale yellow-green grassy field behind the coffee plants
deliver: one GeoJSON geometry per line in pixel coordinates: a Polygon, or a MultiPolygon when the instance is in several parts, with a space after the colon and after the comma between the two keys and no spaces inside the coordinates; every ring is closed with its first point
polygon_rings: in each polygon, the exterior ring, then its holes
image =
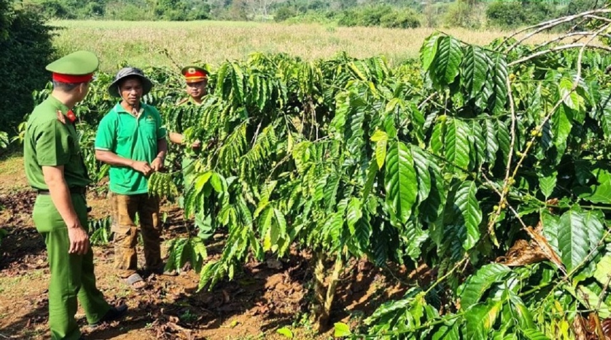
{"type": "MultiPolygon", "coordinates": [[[[133,66],[170,66],[159,51],[167,49],[180,65],[196,60],[218,65],[251,52],[285,52],[307,60],[329,58],[340,51],[354,57],[384,54],[391,64],[418,56],[434,29],[335,27],[320,24],[243,23],[231,21],[52,21],[59,27],[54,44],[63,54],[88,49],[98,54],[103,71],[125,61],[133,66]]],[[[444,31],[468,43],[487,44],[507,32],[444,31]]],[[[532,43],[550,36],[538,35],[532,43]]]]}

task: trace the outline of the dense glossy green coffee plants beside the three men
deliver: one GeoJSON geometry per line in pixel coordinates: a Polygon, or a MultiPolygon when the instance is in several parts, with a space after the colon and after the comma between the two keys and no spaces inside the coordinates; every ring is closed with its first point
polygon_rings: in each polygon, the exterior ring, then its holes
{"type": "MultiPolygon", "coordinates": [[[[175,105],[178,77],[148,69],[156,87],[145,100],[187,145],[205,146],[180,150],[194,159],[189,185],[178,160],[150,182],[151,193],[181,195],[195,225],[170,241],[167,269],[189,262],[210,289],[246,261],[305,250],[318,329],[355,259],[430,269],[429,283],[360,327],[336,324],[354,339],[611,336],[610,12],[529,27],[525,38],[588,27],[536,46],[433,34],[419,62],[395,68],[384,57],[255,53],[219,65],[200,106],[175,105]],[[219,230],[227,239],[211,261],[219,230]]],[[[100,74],[76,110],[86,160],[114,105],[100,90],[111,78],[100,74]]]]}

